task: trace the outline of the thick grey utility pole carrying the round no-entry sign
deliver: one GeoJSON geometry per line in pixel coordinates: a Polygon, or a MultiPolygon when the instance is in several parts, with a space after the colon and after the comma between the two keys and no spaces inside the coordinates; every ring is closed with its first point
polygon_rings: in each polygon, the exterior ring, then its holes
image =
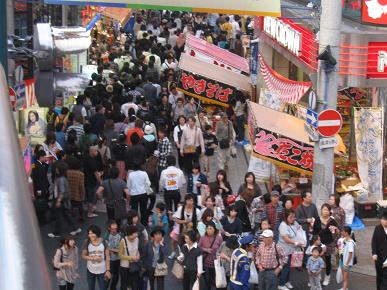
{"type": "MultiPolygon", "coordinates": [[[[328,45],[332,56],[339,59],[340,29],[341,29],[341,1],[322,0],[320,18],[319,53],[328,45]]],[[[337,107],[338,65],[327,70],[326,61],[320,61],[317,79],[317,112],[337,107]]],[[[319,142],[314,146],[313,165],[313,199],[319,208],[328,201],[329,195],[334,193],[334,148],[320,149],[319,142]]]]}

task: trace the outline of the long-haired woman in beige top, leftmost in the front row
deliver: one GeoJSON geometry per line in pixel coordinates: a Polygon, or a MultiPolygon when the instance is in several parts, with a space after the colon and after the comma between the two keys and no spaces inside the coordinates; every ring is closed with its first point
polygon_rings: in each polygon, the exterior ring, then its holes
{"type": "Polygon", "coordinates": [[[72,235],[67,235],[60,243],[60,247],[54,255],[54,268],[56,269],[56,278],[59,290],[72,290],[78,273],[78,248],[75,245],[75,239],[72,235]]]}

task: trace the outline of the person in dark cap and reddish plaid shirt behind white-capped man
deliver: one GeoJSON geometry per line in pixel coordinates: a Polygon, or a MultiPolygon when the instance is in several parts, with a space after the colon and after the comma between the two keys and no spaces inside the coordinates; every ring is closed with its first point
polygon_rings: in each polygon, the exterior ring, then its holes
{"type": "Polygon", "coordinates": [[[273,190],[270,193],[270,203],[265,205],[261,219],[267,218],[274,232],[274,239],[278,241],[278,229],[284,219],[284,208],[279,203],[280,193],[273,190]]]}

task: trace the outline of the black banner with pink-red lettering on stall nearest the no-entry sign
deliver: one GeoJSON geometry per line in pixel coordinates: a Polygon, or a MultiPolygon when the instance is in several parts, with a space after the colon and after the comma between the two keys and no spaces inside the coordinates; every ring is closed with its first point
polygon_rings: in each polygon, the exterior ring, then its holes
{"type": "Polygon", "coordinates": [[[274,132],[255,128],[253,154],[281,167],[313,173],[313,146],[303,144],[274,132]]]}

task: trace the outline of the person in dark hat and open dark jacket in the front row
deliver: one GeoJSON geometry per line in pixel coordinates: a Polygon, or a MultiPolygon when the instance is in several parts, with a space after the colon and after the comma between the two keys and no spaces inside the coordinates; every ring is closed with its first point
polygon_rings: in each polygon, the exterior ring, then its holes
{"type": "Polygon", "coordinates": [[[151,240],[147,243],[144,254],[145,276],[149,279],[150,289],[164,290],[164,277],[155,273],[156,267],[161,264],[165,265],[166,246],[164,244],[165,231],[163,228],[156,226],[150,232],[151,240]],[[155,276],[156,274],[156,276],[155,276]],[[155,287],[155,282],[157,288],[155,287]]]}

